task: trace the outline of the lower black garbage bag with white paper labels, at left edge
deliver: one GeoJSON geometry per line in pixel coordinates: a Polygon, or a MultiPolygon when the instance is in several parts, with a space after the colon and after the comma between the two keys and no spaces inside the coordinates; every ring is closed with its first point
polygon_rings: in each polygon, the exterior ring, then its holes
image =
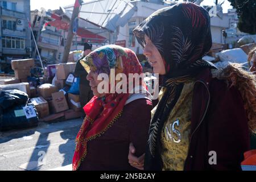
{"type": "Polygon", "coordinates": [[[14,106],[0,115],[0,131],[38,126],[38,113],[32,103],[14,106]]]}

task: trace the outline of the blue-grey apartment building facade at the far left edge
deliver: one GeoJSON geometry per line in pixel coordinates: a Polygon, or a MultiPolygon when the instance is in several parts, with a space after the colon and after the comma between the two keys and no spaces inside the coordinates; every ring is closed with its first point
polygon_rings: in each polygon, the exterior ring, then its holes
{"type": "Polygon", "coordinates": [[[1,63],[31,57],[30,0],[0,1],[0,5],[1,63]]]}

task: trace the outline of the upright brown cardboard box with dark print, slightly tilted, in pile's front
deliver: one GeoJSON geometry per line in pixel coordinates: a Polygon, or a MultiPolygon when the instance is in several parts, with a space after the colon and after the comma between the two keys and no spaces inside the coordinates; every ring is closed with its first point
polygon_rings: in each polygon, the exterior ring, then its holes
{"type": "Polygon", "coordinates": [[[51,102],[53,113],[59,113],[61,111],[68,110],[68,102],[63,92],[52,93],[51,102]]]}

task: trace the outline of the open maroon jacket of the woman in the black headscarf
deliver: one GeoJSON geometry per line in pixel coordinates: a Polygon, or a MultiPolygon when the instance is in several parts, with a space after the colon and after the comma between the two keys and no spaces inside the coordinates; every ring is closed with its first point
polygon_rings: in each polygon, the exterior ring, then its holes
{"type": "Polygon", "coordinates": [[[197,76],[192,102],[191,138],[184,170],[240,170],[250,150],[249,127],[240,92],[212,78],[209,69],[197,76]],[[217,164],[210,165],[210,151],[217,164]]]}

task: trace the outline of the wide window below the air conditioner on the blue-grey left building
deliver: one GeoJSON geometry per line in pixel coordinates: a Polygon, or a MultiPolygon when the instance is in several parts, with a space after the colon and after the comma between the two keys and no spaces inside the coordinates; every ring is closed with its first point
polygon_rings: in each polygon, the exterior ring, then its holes
{"type": "Polygon", "coordinates": [[[24,49],[25,48],[25,39],[14,38],[14,37],[10,37],[10,36],[3,36],[2,45],[3,45],[3,48],[24,49]]]}

